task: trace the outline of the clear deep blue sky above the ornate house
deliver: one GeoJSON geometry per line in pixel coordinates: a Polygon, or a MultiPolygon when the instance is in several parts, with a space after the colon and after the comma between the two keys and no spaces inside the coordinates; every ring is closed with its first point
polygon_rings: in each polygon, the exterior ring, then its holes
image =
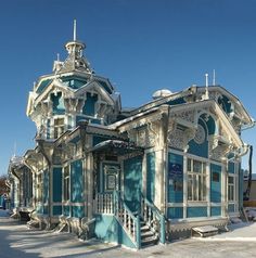
{"type": "MultiPolygon", "coordinates": [[[[14,142],[17,155],[35,146],[28,92],[51,73],[56,53],[65,59],[74,18],[86,56],[121,93],[123,106],[143,104],[161,88],[202,86],[216,69],[217,83],[256,118],[255,13],[254,0],[0,1],[0,175],[14,142]]],[[[243,139],[256,145],[255,136],[254,128],[243,139]]]]}

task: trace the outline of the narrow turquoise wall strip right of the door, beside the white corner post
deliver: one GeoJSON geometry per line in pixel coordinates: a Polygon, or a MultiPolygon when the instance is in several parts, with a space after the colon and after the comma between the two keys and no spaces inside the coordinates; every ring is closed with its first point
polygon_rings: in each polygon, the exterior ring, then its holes
{"type": "Polygon", "coordinates": [[[155,153],[146,154],[146,198],[155,199],[155,153]]]}

